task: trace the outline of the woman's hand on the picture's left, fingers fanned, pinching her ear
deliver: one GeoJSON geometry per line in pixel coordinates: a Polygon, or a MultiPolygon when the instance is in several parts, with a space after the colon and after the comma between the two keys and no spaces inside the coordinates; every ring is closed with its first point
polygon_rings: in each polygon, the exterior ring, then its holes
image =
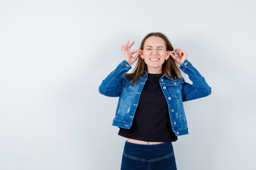
{"type": "Polygon", "coordinates": [[[126,60],[130,65],[132,65],[137,58],[139,57],[139,50],[130,51],[131,46],[134,44],[134,41],[129,45],[129,41],[121,46],[121,51],[124,53],[124,60],[126,60]],[[137,53],[134,57],[132,54],[137,53]]]}

